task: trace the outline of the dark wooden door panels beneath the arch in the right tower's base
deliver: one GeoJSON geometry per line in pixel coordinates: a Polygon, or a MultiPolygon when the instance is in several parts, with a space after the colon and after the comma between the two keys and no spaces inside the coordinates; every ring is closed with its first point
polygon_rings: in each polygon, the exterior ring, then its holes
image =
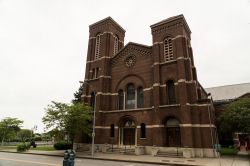
{"type": "Polygon", "coordinates": [[[181,146],[180,127],[167,127],[167,146],[181,146]]]}

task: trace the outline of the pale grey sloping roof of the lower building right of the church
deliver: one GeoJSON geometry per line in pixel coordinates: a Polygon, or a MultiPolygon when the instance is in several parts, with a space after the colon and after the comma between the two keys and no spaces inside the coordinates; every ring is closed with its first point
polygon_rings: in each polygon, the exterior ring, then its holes
{"type": "Polygon", "coordinates": [[[250,83],[206,88],[206,91],[211,93],[214,101],[233,100],[250,93],[250,83]]]}

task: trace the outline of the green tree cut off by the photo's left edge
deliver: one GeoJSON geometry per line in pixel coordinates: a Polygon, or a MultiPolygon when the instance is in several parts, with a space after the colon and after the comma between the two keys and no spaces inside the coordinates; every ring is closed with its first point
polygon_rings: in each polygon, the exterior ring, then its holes
{"type": "Polygon", "coordinates": [[[23,121],[17,118],[6,117],[0,121],[0,135],[2,140],[2,145],[5,139],[10,139],[13,135],[20,130],[23,121]]]}

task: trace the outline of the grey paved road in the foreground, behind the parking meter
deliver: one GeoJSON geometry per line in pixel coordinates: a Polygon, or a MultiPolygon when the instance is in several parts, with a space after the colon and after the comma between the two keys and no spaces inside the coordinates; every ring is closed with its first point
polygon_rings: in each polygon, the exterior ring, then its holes
{"type": "MultiPolygon", "coordinates": [[[[62,157],[0,152],[0,166],[62,166],[62,157]]],[[[75,166],[159,166],[130,162],[76,159],[75,166]]]]}

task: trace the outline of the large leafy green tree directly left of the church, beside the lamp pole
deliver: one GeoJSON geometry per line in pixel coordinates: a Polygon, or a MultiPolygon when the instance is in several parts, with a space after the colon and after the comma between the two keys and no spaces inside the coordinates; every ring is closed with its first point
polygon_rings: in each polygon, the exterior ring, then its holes
{"type": "Polygon", "coordinates": [[[52,102],[45,110],[43,123],[52,133],[65,132],[72,142],[77,134],[90,133],[91,107],[82,103],[52,102]]]}

